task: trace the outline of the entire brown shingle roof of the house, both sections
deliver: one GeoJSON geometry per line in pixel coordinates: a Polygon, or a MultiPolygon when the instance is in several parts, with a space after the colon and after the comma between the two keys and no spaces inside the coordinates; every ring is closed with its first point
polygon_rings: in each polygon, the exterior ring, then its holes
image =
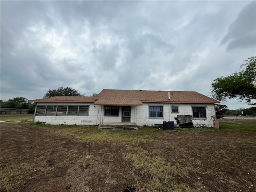
{"type": "Polygon", "coordinates": [[[90,102],[95,105],[142,105],[142,102],[160,103],[220,103],[195,91],[145,91],[104,89],[96,97],[60,96],[30,100],[30,102],[90,102]]]}

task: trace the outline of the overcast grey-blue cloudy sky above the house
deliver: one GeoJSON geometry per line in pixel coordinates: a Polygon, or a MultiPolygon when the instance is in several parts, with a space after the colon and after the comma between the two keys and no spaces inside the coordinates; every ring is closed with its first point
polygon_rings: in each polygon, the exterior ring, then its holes
{"type": "MultiPolygon", "coordinates": [[[[256,1],[1,1],[1,100],[181,90],[256,55],[256,1]]],[[[237,100],[229,109],[248,108],[237,100]]]]}

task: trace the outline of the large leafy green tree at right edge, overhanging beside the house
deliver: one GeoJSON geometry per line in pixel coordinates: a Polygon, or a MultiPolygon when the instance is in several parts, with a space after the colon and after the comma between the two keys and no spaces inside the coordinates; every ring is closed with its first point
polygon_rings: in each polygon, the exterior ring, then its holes
{"type": "Polygon", "coordinates": [[[240,68],[246,68],[241,72],[213,80],[212,92],[217,100],[236,98],[252,104],[252,100],[256,99],[256,56],[248,58],[245,62],[240,68]]]}

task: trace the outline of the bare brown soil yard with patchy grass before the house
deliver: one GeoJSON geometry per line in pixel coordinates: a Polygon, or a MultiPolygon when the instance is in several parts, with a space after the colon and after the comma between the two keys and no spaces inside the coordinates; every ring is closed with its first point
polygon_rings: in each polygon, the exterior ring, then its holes
{"type": "Polygon", "coordinates": [[[256,191],[256,130],[1,123],[1,192],[256,191]]]}

